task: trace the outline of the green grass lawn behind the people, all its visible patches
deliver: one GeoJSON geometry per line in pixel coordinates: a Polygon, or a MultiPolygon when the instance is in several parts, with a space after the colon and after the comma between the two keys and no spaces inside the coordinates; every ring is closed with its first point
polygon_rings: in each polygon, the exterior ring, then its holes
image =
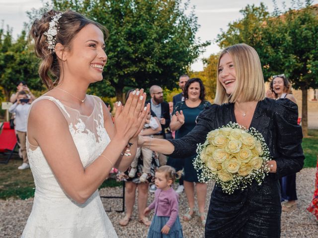
{"type": "MultiPolygon", "coordinates": [[[[316,167],[318,155],[318,130],[309,130],[309,137],[303,139],[305,154],[304,168],[316,167]]],[[[2,158],[0,158],[2,159],[2,158]]],[[[7,165],[0,164],[0,199],[9,197],[26,199],[34,196],[34,182],[31,170],[18,170],[22,160],[16,155],[7,165]]],[[[115,179],[105,180],[99,188],[121,186],[115,179]]]]}

